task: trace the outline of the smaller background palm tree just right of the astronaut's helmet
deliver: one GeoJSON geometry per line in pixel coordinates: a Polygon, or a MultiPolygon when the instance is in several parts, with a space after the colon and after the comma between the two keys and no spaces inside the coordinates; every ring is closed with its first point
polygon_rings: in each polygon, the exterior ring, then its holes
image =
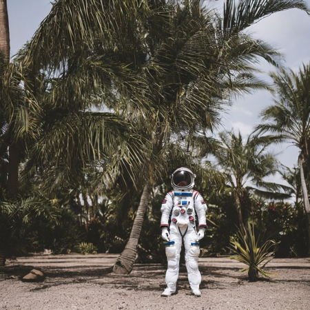
{"type": "Polygon", "coordinates": [[[214,156],[220,169],[223,169],[227,179],[227,186],[234,196],[240,231],[246,234],[241,204],[245,192],[251,190],[254,194],[265,198],[288,198],[290,197],[289,194],[279,194],[274,193],[274,191],[279,192],[281,189],[288,191],[289,188],[264,180],[264,178],[276,174],[280,168],[276,158],[267,152],[267,147],[272,140],[251,134],[243,142],[240,132],[238,135],[233,132],[221,132],[219,141],[220,145],[214,152],[214,156]],[[252,187],[253,185],[256,187],[252,187]]]}

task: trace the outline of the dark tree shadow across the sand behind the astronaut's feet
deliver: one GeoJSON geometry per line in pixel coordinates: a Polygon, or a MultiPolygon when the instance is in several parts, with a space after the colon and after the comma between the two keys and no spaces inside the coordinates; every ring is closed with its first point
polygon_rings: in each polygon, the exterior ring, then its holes
{"type": "MultiPolygon", "coordinates": [[[[166,265],[162,264],[136,264],[130,275],[116,275],[111,267],[102,266],[75,266],[75,267],[48,267],[14,266],[6,268],[4,279],[21,280],[32,269],[39,269],[45,273],[45,280],[35,283],[30,291],[48,289],[59,285],[74,285],[91,283],[119,289],[134,291],[163,291],[165,289],[166,265]]],[[[238,274],[236,268],[200,267],[203,280],[200,289],[227,289],[228,287],[242,285],[248,282],[245,273],[238,274]]],[[[275,280],[272,280],[275,281],[275,280]]],[[[298,282],[294,280],[276,280],[277,282],[298,282]]],[[[310,281],[303,281],[309,282],[310,281]]],[[[190,293],[187,271],[184,264],[180,265],[180,275],[177,283],[178,291],[190,293]]]]}

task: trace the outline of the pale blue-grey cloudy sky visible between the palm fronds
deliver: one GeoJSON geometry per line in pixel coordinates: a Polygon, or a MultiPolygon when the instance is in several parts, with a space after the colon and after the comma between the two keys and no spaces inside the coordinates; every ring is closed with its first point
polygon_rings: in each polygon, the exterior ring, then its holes
{"type": "MultiPolygon", "coordinates": [[[[310,0],[306,1],[310,7],[310,0]]],[[[223,0],[210,0],[209,6],[223,8],[223,0]]],[[[8,15],[10,23],[11,56],[32,38],[39,24],[48,15],[52,5],[49,0],[8,0],[8,15]]],[[[255,37],[267,41],[285,55],[286,68],[296,71],[302,63],[310,62],[310,17],[297,9],[272,14],[249,28],[255,37]]],[[[269,71],[276,70],[267,63],[260,63],[265,71],[260,77],[271,83],[269,71]]],[[[240,130],[242,136],[250,134],[260,123],[259,114],[263,108],[272,104],[272,96],[267,91],[257,91],[254,94],[242,96],[234,103],[223,118],[225,128],[220,130],[240,130]]],[[[273,152],[283,165],[293,167],[297,164],[298,149],[291,144],[277,147],[273,152]]]]}

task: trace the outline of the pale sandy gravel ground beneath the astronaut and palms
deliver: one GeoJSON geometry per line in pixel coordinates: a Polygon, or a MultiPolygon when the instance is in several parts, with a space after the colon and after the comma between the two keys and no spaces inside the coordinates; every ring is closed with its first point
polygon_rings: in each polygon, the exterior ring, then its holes
{"type": "MultiPolygon", "coordinates": [[[[201,258],[202,296],[190,295],[187,273],[180,269],[178,294],[162,298],[165,266],[135,265],[130,276],[111,273],[116,255],[41,256],[6,264],[0,276],[0,309],[310,309],[310,258],[273,260],[271,280],[248,282],[229,258],[201,258]],[[32,268],[43,282],[21,282],[32,268]]],[[[268,265],[267,265],[268,266],[268,265]]]]}

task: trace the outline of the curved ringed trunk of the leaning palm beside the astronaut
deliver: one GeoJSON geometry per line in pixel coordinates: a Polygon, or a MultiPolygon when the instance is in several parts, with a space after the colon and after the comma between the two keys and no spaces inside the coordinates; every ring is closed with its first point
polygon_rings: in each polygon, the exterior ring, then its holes
{"type": "Polygon", "coordinates": [[[118,257],[113,267],[113,271],[117,274],[129,274],[134,267],[134,260],[136,259],[136,246],[140,238],[141,228],[143,225],[143,219],[145,211],[147,209],[147,203],[149,201],[149,195],[151,189],[148,185],[145,185],[141,196],[138,210],[136,211],[136,218],[134,218],[134,225],[132,226],[132,232],[130,238],[125,246],[121,256],[118,257]]]}

